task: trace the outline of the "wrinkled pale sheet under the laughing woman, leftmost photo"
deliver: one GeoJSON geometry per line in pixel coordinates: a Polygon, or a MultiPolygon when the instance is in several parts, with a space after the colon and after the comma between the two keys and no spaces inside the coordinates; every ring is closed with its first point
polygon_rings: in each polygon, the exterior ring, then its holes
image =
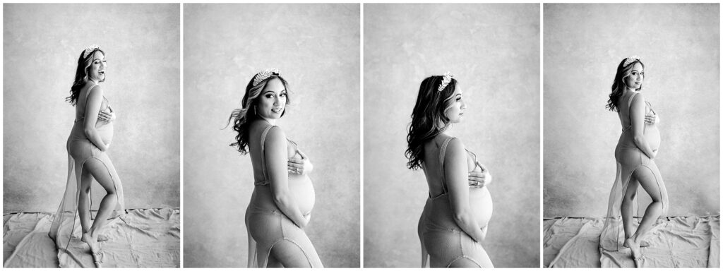
{"type": "MultiPolygon", "coordinates": [[[[108,222],[100,242],[103,267],[180,267],[180,211],[129,210],[108,222]]],[[[51,214],[3,216],[4,267],[95,267],[87,244],[73,238],[68,249],[56,249],[48,237],[51,214]]]]}

